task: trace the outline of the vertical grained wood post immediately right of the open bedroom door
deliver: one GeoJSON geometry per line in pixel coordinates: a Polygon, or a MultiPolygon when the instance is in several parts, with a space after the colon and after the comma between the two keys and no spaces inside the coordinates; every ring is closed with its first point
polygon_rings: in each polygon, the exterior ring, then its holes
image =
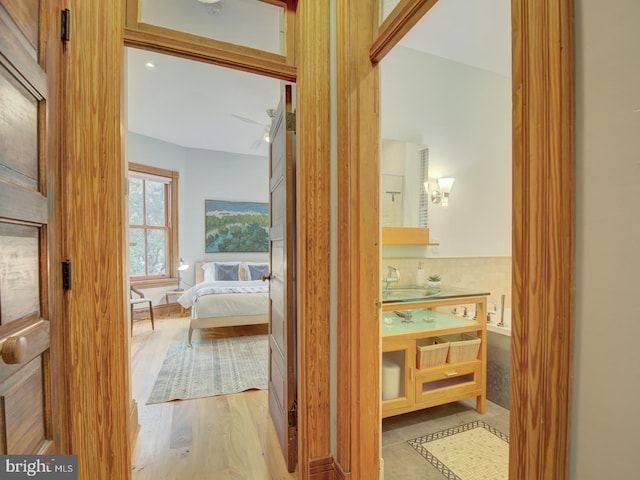
{"type": "Polygon", "coordinates": [[[296,244],[299,478],[330,445],[330,78],[329,2],[298,3],[296,244]]]}

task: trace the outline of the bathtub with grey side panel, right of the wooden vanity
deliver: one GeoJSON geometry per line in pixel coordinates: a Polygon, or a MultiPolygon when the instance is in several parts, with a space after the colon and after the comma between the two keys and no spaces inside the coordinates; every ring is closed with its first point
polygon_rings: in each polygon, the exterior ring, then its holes
{"type": "Polygon", "coordinates": [[[504,309],[504,326],[499,327],[500,311],[487,324],[487,400],[509,409],[511,400],[511,309],[504,309]]]}

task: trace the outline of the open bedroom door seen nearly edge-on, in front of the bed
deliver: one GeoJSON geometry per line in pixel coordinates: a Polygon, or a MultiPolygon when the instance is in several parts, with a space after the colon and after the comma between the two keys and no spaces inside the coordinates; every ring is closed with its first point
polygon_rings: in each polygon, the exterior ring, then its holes
{"type": "Polygon", "coordinates": [[[297,463],[295,344],[295,186],[291,85],[284,85],[271,126],[269,412],[293,472],[297,463]]]}

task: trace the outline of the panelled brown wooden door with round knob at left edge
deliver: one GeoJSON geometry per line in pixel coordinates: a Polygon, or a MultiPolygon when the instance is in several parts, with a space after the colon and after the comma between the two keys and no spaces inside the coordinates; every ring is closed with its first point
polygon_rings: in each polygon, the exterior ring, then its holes
{"type": "Polygon", "coordinates": [[[0,453],[54,452],[50,216],[60,2],[0,0],[0,453]],[[47,25],[55,25],[53,28],[47,25]],[[55,78],[54,78],[55,77],[55,78]],[[54,98],[55,97],[55,98],[54,98]]]}

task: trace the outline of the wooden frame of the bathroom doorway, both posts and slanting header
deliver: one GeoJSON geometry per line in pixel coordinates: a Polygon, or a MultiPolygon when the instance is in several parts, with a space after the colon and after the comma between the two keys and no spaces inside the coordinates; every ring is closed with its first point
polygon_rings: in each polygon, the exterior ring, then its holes
{"type": "MultiPolygon", "coordinates": [[[[374,22],[367,24],[367,17],[376,16],[374,3],[379,2],[337,0],[336,15],[341,205],[336,472],[354,479],[378,477],[380,452],[379,388],[372,382],[379,379],[380,358],[376,62],[435,1],[402,0],[378,40],[374,22]]],[[[509,478],[514,480],[568,475],[575,191],[572,10],[572,0],[512,0],[509,478]]]]}

